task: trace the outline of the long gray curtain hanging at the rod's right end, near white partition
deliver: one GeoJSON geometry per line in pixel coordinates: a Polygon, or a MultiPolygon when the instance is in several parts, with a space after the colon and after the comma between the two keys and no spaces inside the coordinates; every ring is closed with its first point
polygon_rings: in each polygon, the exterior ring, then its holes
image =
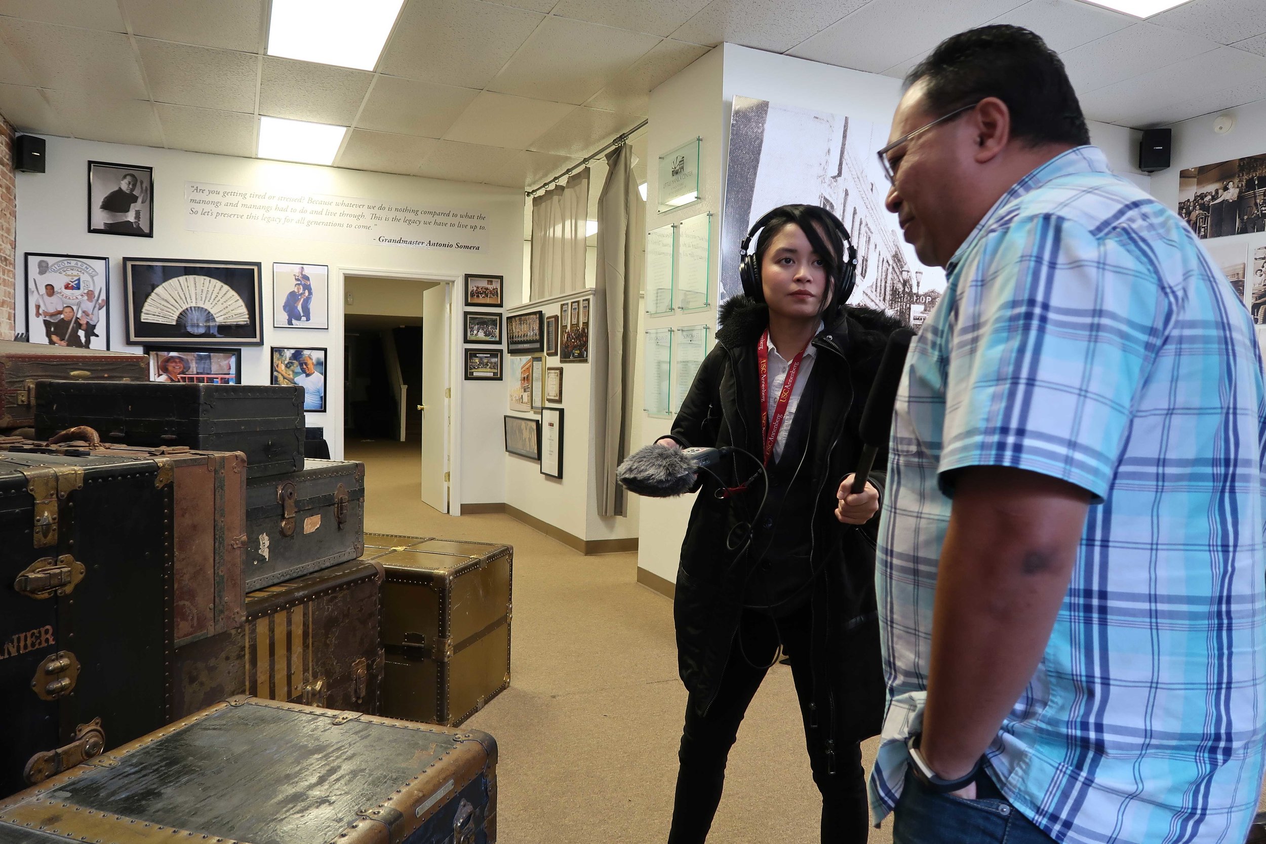
{"type": "Polygon", "coordinates": [[[646,202],[638,194],[628,144],[608,153],[606,166],[606,182],[598,197],[596,287],[606,301],[606,367],[599,368],[595,378],[598,514],[623,516],[628,493],[615,482],[615,467],[628,456],[632,437],[646,202]]]}

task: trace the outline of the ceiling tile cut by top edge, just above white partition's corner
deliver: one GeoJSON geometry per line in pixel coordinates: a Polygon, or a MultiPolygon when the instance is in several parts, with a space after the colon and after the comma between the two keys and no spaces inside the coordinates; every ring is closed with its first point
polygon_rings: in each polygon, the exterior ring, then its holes
{"type": "MultiPolygon", "coordinates": [[[[715,46],[722,42],[767,49],[791,49],[805,33],[825,29],[868,0],[711,0],[671,34],[677,40],[715,46]]],[[[903,22],[904,23],[904,22],[903,22]]]]}

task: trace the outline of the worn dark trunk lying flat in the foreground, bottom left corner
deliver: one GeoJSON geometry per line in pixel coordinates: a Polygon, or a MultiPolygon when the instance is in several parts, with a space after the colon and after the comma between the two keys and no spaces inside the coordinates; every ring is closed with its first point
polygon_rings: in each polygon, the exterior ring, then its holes
{"type": "Polygon", "coordinates": [[[496,742],[233,698],[0,802],[0,841],[67,840],[495,844],[496,742]]]}

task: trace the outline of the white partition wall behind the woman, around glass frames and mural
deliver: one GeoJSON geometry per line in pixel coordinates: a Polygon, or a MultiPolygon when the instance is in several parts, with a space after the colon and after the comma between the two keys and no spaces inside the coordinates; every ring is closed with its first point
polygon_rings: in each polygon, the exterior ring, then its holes
{"type": "MultiPolygon", "coordinates": [[[[720,267],[720,218],[724,196],[729,119],[734,96],[749,96],[801,109],[843,114],[889,125],[901,95],[900,80],[875,73],[819,65],[790,56],[722,44],[651,92],[648,130],[647,232],[711,211],[713,300],[717,301],[720,267]],[[703,138],[700,182],[703,199],[665,214],[656,213],[656,159],[690,138],[703,138]]],[[[1137,133],[1106,124],[1091,124],[1091,139],[1100,144],[1113,168],[1147,186],[1138,172],[1137,133]]],[[[691,325],[700,314],[642,316],[642,328],[691,325]]],[[[638,354],[638,396],[642,395],[643,354],[638,354]]],[[[642,414],[641,447],[661,437],[671,420],[642,414]]],[[[681,539],[694,496],[670,500],[643,499],[638,566],[675,581],[681,539]]]]}

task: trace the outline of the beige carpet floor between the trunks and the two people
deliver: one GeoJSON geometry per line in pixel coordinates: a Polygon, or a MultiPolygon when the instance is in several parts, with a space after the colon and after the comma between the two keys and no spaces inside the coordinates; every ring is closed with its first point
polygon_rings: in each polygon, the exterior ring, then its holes
{"type": "MultiPolygon", "coordinates": [[[[366,530],[514,545],[510,688],[467,721],[500,747],[500,844],[665,841],[686,693],[672,604],[637,583],[637,555],[584,557],[510,516],[437,512],[418,497],[417,444],[351,440],[347,458],[366,463],[366,530]]],[[[791,673],[775,666],[709,841],[812,844],[819,810],[791,673]]]]}

